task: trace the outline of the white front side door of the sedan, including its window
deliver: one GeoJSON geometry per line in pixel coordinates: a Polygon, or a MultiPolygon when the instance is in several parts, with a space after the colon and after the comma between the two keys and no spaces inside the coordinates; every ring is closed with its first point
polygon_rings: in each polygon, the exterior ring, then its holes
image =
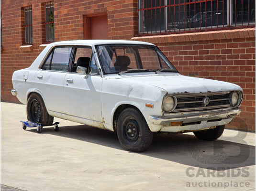
{"type": "MultiPolygon", "coordinates": [[[[64,80],[64,103],[66,114],[91,121],[102,122],[101,84],[102,78],[95,70],[95,61],[90,47],[76,47],[71,73],[64,80]],[[81,63],[82,61],[82,63],[81,63]],[[76,72],[76,67],[87,68],[85,74],[76,72]]],[[[93,125],[93,123],[89,123],[93,125]]]]}

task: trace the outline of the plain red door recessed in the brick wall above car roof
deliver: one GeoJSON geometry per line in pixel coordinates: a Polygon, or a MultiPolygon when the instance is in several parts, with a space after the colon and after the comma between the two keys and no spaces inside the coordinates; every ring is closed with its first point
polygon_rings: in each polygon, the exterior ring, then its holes
{"type": "Polygon", "coordinates": [[[108,39],[108,15],[85,16],[85,39],[108,39]]]}

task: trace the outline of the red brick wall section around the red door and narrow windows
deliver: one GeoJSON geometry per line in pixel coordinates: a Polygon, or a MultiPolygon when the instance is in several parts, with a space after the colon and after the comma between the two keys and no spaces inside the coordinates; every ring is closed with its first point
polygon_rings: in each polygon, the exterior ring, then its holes
{"type": "MultiPolygon", "coordinates": [[[[1,0],[1,101],[19,103],[11,95],[11,76],[29,67],[45,43],[45,3],[51,0],[1,0]],[[33,46],[24,43],[23,7],[32,6],[33,46]],[[22,35],[23,34],[23,35],[22,35]]],[[[137,0],[54,0],[55,41],[84,39],[84,15],[107,13],[109,39],[129,40],[137,34],[137,0]]]]}

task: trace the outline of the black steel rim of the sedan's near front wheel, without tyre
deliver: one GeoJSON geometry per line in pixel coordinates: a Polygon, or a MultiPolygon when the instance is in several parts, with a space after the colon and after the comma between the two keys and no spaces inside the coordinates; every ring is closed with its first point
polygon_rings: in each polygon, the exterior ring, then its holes
{"type": "Polygon", "coordinates": [[[127,117],[123,123],[123,135],[126,141],[134,145],[140,137],[139,124],[134,117],[127,117]]]}

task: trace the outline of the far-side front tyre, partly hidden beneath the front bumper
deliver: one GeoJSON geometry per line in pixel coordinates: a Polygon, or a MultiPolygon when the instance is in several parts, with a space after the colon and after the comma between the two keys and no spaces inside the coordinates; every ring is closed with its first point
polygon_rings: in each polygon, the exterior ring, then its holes
{"type": "Polygon", "coordinates": [[[194,131],[194,135],[201,140],[216,140],[223,134],[225,125],[217,126],[216,128],[210,128],[202,131],[194,131]]]}

